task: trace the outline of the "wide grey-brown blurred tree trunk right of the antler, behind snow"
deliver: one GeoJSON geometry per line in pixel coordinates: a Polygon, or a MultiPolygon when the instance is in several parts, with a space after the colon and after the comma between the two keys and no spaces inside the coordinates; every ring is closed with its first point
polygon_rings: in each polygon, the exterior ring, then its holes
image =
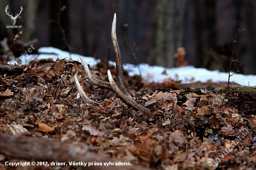
{"type": "Polygon", "coordinates": [[[154,12],[151,65],[174,67],[182,46],[186,0],[158,0],[154,12]]]}

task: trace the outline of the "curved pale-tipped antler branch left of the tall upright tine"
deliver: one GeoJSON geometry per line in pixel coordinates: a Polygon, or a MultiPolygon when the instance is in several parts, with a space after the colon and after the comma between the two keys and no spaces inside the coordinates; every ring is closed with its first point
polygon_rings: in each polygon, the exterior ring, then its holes
{"type": "Polygon", "coordinates": [[[97,85],[97,86],[100,86],[100,87],[103,87],[103,88],[107,88],[107,89],[109,89],[109,90],[112,90],[110,84],[109,84],[107,81],[103,81],[103,80],[101,80],[101,79],[99,79],[99,78],[96,78],[96,77],[91,73],[91,71],[90,71],[90,69],[89,69],[87,63],[85,62],[85,60],[84,60],[82,57],[80,57],[80,59],[81,59],[81,62],[82,62],[82,64],[83,64],[83,66],[84,66],[85,72],[86,72],[86,74],[87,74],[89,80],[90,80],[94,85],[97,85]]]}

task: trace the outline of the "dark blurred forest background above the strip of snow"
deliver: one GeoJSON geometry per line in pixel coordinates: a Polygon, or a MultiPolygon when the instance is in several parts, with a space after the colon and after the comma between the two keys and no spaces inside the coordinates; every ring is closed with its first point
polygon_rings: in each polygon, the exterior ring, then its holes
{"type": "MultiPolygon", "coordinates": [[[[235,57],[243,62],[235,67],[256,74],[256,0],[0,0],[0,40],[7,37],[11,45],[19,30],[6,28],[11,25],[7,5],[13,16],[23,7],[16,22],[23,28],[23,45],[36,40],[36,49],[53,46],[96,59],[107,59],[109,51],[115,60],[110,32],[116,13],[123,62],[132,64],[134,51],[138,63],[174,67],[175,52],[182,46],[189,65],[225,71],[230,43],[242,27],[246,31],[236,39],[235,57]],[[70,47],[56,23],[58,16],[70,47]]],[[[24,46],[12,51],[19,57],[24,46]]]]}

